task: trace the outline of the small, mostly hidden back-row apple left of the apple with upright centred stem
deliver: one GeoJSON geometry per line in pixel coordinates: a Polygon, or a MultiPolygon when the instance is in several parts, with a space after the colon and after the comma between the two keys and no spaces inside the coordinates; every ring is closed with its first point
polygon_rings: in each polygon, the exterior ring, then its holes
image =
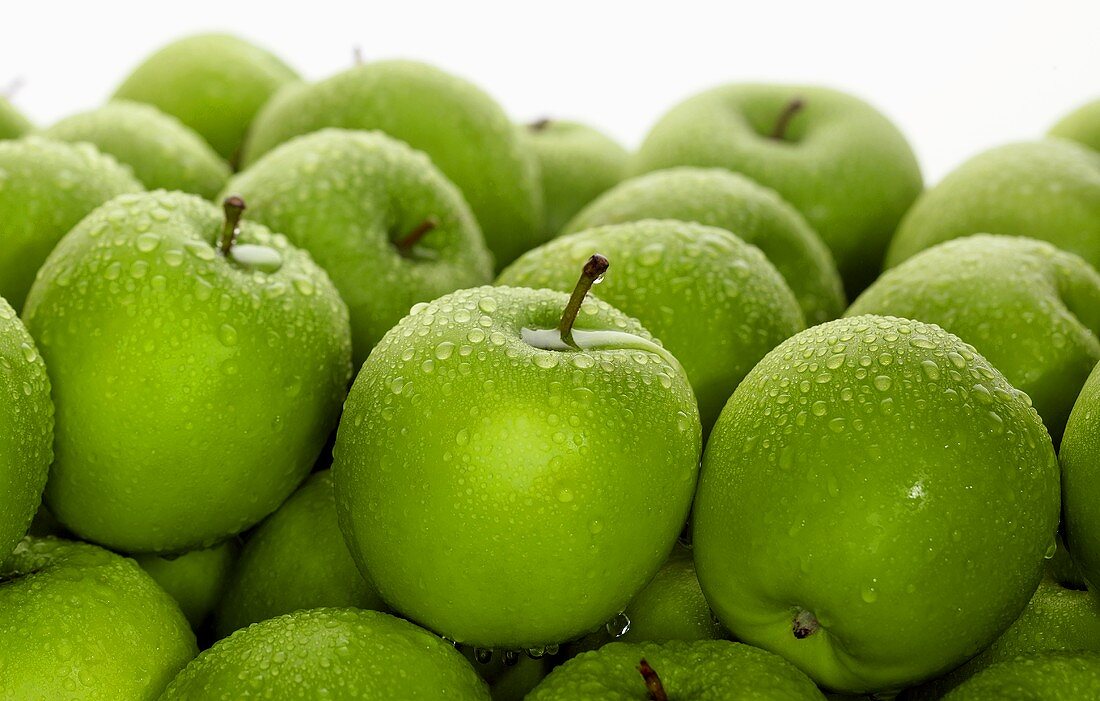
{"type": "Polygon", "coordinates": [[[626,174],[626,149],[592,127],[540,119],[520,133],[539,164],[546,239],[626,174]]]}

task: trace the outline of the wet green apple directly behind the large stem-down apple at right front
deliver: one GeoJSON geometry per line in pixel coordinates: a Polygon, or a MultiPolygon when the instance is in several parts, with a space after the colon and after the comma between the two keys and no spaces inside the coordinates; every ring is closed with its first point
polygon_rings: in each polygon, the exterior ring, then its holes
{"type": "Polygon", "coordinates": [[[1027,393],[1055,442],[1100,361],[1100,274],[1034,239],[941,243],[883,273],[847,314],[921,319],[972,343],[1027,393]]]}

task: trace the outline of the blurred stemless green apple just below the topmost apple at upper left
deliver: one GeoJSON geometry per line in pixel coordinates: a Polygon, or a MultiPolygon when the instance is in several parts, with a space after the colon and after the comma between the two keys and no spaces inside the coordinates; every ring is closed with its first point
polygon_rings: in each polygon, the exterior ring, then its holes
{"type": "Polygon", "coordinates": [[[183,190],[213,199],[229,164],[175,117],[141,102],[117,100],[74,114],[42,132],[57,141],[90,143],[130,166],[147,189],[183,190]]]}

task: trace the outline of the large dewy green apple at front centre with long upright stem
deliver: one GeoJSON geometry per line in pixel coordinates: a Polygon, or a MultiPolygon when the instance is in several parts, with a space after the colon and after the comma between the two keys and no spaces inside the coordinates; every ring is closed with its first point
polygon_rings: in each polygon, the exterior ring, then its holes
{"type": "Polygon", "coordinates": [[[414,307],[348,396],[332,474],[349,549],[387,604],[452,640],[529,649],[603,625],[684,524],[695,399],[638,321],[585,299],[606,264],[572,296],[414,307]]]}

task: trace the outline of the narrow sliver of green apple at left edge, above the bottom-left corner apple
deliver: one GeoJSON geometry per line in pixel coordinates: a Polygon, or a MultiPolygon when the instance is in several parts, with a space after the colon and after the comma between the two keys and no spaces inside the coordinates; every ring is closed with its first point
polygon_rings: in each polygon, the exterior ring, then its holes
{"type": "Polygon", "coordinates": [[[54,404],[34,339],[0,297],[0,559],[26,534],[53,459],[54,404]]]}

